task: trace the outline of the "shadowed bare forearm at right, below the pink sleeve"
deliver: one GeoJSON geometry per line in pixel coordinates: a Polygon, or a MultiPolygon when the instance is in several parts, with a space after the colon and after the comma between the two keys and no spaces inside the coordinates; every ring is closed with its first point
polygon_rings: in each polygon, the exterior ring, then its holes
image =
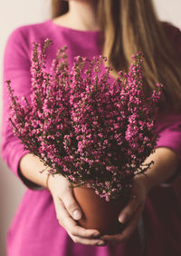
{"type": "Polygon", "coordinates": [[[172,150],[168,148],[157,148],[145,163],[154,161],[143,178],[146,181],[148,191],[160,183],[167,182],[169,178],[174,176],[178,170],[179,158],[172,150]]]}

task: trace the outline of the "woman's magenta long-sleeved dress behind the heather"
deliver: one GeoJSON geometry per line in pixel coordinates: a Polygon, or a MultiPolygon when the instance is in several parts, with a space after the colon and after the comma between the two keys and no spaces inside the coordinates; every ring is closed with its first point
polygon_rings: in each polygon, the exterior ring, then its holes
{"type": "MultiPolygon", "coordinates": [[[[170,27],[169,31],[172,32],[169,36],[174,38],[177,46],[181,44],[180,32],[175,27],[170,27]]],[[[91,58],[101,53],[101,34],[98,31],[78,31],[55,25],[51,20],[15,29],[5,48],[4,81],[12,81],[17,96],[24,94],[27,98],[30,97],[32,43],[43,43],[47,37],[53,41],[48,50],[48,66],[57,49],[64,44],[68,45],[70,64],[76,55],[91,58]]],[[[181,55],[181,47],[178,51],[181,55]]],[[[50,192],[45,189],[32,190],[38,189],[38,186],[28,182],[18,172],[18,163],[27,152],[24,152],[23,145],[14,137],[11,126],[7,123],[9,110],[5,83],[3,101],[2,157],[14,174],[29,186],[7,233],[7,256],[140,255],[142,249],[138,230],[129,241],[114,247],[90,247],[71,241],[56,220],[50,192]]],[[[181,117],[176,114],[161,116],[157,132],[160,134],[157,147],[168,147],[181,156],[181,117]]],[[[179,192],[174,186],[157,187],[148,195],[143,214],[147,256],[181,255],[181,211],[176,197],[179,192]]]]}

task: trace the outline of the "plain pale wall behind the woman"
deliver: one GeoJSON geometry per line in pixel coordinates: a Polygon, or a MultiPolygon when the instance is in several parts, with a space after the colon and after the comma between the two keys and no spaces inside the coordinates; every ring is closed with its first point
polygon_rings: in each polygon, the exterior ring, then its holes
{"type": "MultiPolygon", "coordinates": [[[[111,0],[114,1],[114,0],[111,0]]],[[[134,1],[134,0],[133,0],[134,1]]],[[[147,1],[147,0],[145,0],[147,1]]],[[[43,22],[51,17],[51,0],[0,0],[0,117],[2,116],[3,54],[7,37],[20,25],[43,22]]],[[[181,1],[154,0],[161,20],[181,28],[181,1]]],[[[181,45],[180,45],[181,47],[181,45]]],[[[1,123],[1,121],[0,121],[1,123]]],[[[1,139],[1,138],[0,138],[1,139]]],[[[13,221],[14,212],[21,202],[25,187],[0,158],[0,255],[5,256],[5,238],[13,221]]],[[[28,220],[27,220],[28,222],[28,220]]],[[[11,255],[13,256],[13,255],[11,255]]],[[[38,255],[34,255],[38,256],[38,255]]],[[[53,255],[52,255],[53,256],[53,255]]]]}

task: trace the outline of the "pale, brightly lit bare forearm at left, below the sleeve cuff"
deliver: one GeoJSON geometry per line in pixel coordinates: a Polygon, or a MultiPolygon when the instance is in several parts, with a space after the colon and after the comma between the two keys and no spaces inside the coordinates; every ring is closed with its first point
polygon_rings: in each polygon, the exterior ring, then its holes
{"type": "Polygon", "coordinates": [[[19,170],[27,180],[46,187],[48,168],[37,156],[31,153],[25,154],[20,160],[19,170]],[[45,171],[41,172],[43,170],[45,171]]]}

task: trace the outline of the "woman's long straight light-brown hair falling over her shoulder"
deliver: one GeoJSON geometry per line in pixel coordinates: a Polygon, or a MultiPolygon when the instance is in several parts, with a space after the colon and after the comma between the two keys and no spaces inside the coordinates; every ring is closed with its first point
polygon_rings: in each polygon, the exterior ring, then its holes
{"type": "MultiPolygon", "coordinates": [[[[129,70],[131,56],[144,54],[145,94],[157,82],[164,84],[160,110],[181,112],[181,55],[169,38],[167,23],[160,22],[152,0],[99,0],[98,15],[103,34],[102,53],[115,77],[129,70]]],[[[52,0],[52,18],[69,10],[67,2],[52,0]]]]}

